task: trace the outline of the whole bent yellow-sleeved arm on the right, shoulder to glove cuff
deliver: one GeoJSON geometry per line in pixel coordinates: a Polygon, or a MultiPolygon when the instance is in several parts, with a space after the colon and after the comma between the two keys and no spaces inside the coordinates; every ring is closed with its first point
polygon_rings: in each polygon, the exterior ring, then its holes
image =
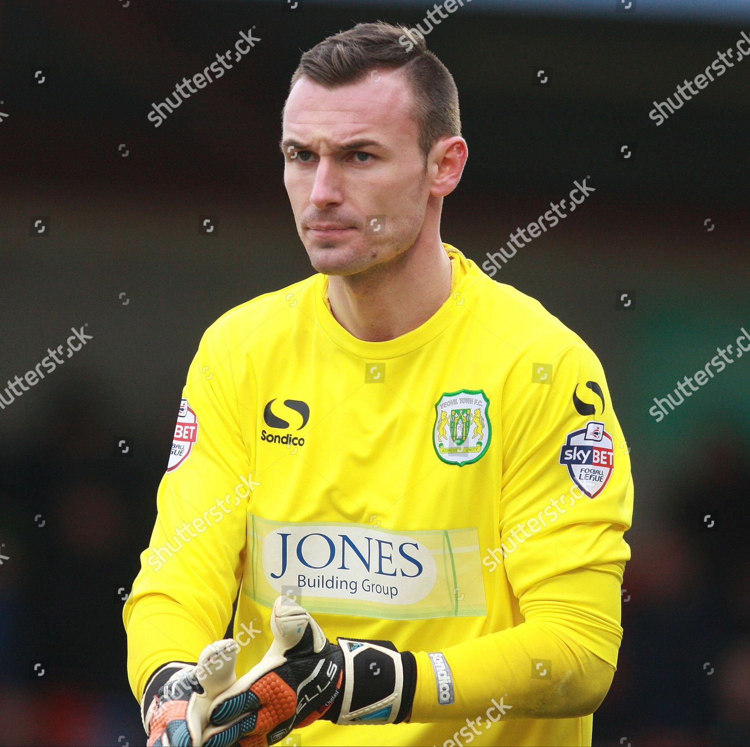
{"type": "MultiPolygon", "coordinates": [[[[584,716],[609,689],[622,638],[622,572],[630,557],[622,538],[632,513],[630,463],[595,355],[577,343],[552,363],[551,384],[529,384],[528,359],[508,378],[500,496],[505,557],[484,561],[491,574],[507,575],[523,621],[443,651],[454,679],[453,704],[438,703],[434,668],[427,653],[417,654],[413,721],[477,716],[490,697],[511,706],[505,719],[584,716]],[[587,381],[598,384],[601,396],[587,381]],[[590,421],[603,422],[613,442],[611,472],[586,473],[607,480],[604,489],[597,493],[599,483],[581,483],[594,498],[559,463],[568,435],[590,421]]],[[[586,441],[573,441],[587,450],[586,441]]],[[[605,447],[607,438],[598,443],[605,447]]]]}

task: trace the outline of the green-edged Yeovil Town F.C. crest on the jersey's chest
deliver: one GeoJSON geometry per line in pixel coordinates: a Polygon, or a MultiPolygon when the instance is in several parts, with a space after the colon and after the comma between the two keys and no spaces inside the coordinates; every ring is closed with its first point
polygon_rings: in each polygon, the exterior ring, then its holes
{"type": "Polygon", "coordinates": [[[492,436],[489,404],[481,389],[462,389],[440,397],[435,405],[433,444],[443,462],[462,467],[484,456],[492,436]]]}

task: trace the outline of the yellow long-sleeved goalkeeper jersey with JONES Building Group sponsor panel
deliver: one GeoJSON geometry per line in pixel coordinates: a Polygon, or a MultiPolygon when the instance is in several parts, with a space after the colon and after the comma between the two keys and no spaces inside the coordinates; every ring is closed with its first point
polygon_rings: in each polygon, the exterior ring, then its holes
{"type": "Polygon", "coordinates": [[[244,674],[289,593],[334,641],[419,652],[419,674],[413,722],[287,744],[590,744],[597,704],[515,716],[575,700],[586,657],[616,665],[628,448],[580,337],[444,246],[449,299],[396,339],[351,335],[322,274],[205,332],[124,608],[136,698],[223,638],[235,599],[244,674]]]}

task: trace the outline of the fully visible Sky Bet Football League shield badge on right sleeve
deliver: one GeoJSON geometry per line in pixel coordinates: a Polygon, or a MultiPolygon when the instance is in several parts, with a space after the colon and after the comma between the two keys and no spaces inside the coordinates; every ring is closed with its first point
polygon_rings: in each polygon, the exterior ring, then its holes
{"type": "Polygon", "coordinates": [[[589,498],[596,498],[614,468],[612,437],[604,430],[604,423],[589,420],[585,428],[568,433],[559,463],[568,468],[578,489],[589,498]]]}

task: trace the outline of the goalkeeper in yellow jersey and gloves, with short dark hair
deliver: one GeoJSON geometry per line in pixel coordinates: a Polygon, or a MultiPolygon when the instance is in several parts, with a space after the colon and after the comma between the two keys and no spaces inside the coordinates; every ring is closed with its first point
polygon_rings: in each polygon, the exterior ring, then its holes
{"type": "Polygon", "coordinates": [[[590,744],[628,453],[582,340],[440,239],[452,76],[357,25],[302,55],[281,148],[318,274],[190,366],[124,611],[149,744],[590,744]]]}

